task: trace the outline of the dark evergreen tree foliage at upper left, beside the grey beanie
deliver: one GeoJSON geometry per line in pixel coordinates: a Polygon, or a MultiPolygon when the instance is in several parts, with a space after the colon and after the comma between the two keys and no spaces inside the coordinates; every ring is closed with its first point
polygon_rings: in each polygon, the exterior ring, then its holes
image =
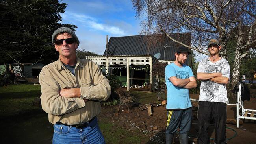
{"type": "Polygon", "coordinates": [[[43,63],[56,60],[52,33],[61,26],[77,28],[59,23],[66,6],[58,0],[1,0],[0,63],[34,63],[40,57],[43,63]]]}

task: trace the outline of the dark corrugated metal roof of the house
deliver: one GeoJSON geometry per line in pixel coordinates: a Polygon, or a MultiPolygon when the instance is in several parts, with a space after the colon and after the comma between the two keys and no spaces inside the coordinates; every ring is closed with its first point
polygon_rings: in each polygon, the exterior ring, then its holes
{"type": "MultiPolygon", "coordinates": [[[[191,33],[174,33],[170,36],[191,46],[191,33]]],[[[180,46],[180,44],[160,34],[111,37],[108,44],[108,55],[155,55],[160,53],[160,60],[171,61],[175,60],[175,51],[180,46]]],[[[106,50],[104,55],[106,55],[106,50]]],[[[189,55],[186,61],[187,65],[190,59],[189,55]]]]}

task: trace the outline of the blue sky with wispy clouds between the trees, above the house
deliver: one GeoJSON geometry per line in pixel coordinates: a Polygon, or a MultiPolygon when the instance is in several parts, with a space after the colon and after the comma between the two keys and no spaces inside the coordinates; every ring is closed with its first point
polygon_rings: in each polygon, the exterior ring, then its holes
{"type": "Polygon", "coordinates": [[[78,49],[103,54],[106,35],[110,37],[139,35],[141,20],[131,0],[63,0],[62,24],[74,24],[80,41],[78,49]]]}

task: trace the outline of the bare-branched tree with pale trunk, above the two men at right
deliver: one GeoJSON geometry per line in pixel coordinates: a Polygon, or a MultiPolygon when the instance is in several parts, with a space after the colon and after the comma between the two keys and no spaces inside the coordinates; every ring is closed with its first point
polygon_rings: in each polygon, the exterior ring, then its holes
{"type": "MultiPolygon", "coordinates": [[[[210,39],[219,39],[221,56],[228,59],[228,39],[235,41],[232,81],[228,89],[239,80],[241,60],[256,48],[255,0],[132,0],[142,22],[143,33],[164,33],[174,42],[209,55],[206,51],[210,39]],[[171,33],[191,33],[191,46],[173,37],[171,33]]],[[[230,99],[234,99],[234,95],[230,99]]]]}

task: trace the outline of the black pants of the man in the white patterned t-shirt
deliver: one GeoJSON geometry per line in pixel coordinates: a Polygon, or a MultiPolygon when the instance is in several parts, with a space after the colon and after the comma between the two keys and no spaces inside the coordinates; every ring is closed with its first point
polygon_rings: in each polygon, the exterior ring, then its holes
{"type": "Polygon", "coordinates": [[[215,144],[226,144],[226,103],[199,102],[198,144],[209,144],[208,127],[210,119],[215,127],[215,144]]]}

